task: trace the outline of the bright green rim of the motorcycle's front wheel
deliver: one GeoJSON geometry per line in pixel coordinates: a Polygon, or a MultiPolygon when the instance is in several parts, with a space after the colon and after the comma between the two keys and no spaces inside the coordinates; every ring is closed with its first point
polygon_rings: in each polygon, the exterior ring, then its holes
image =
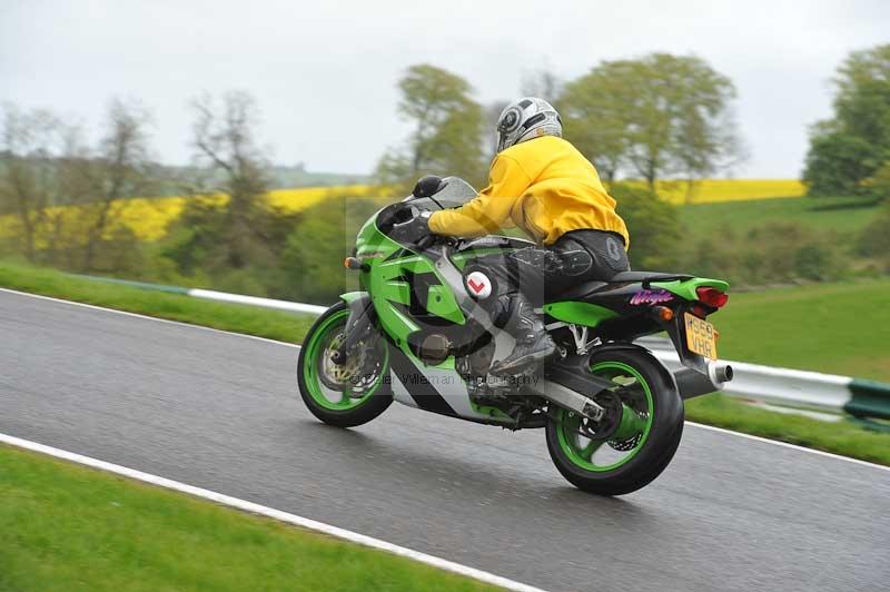
{"type": "Polygon", "coordinates": [[[313,397],[318,405],[330,411],[353,411],[365,403],[367,403],[374,393],[379,389],[383,384],[383,377],[389,367],[389,349],[384,345],[383,347],[383,363],[380,364],[379,374],[374,379],[374,383],[360,396],[352,396],[352,387],[344,391],[335,391],[325,385],[318,376],[319,363],[322,356],[325,355],[327,345],[337,336],[337,332],[346,325],[346,319],[349,317],[349,310],[340,310],[330,315],[325,322],[313,332],[309,339],[303,344],[305,348],[305,358],[303,364],[303,378],[309,396],[313,397]]]}

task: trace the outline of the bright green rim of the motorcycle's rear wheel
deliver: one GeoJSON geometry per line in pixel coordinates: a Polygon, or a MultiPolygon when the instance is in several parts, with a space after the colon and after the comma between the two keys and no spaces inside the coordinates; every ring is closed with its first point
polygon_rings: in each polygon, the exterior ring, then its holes
{"type": "MultiPolygon", "coordinates": [[[[560,442],[560,448],[575,466],[585,471],[601,473],[604,471],[612,471],[627,463],[643,448],[649,440],[649,432],[652,430],[654,404],[649,383],[643,378],[643,375],[632,366],[622,364],[621,362],[602,362],[591,366],[591,372],[597,376],[615,382],[616,388],[621,386],[626,388],[627,379],[633,378],[635,381],[634,394],[642,395],[642,401],[644,401],[646,405],[645,410],[635,408],[627,404],[624,405],[623,413],[637,413],[640,423],[644,422],[643,430],[642,432],[637,432],[633,438],[630,438],[630,441],[636,441],[633,447],[625,451],[611,450],[607,454],[603,454],[606,452],[606,448],[611,448],[611,446],[606,444],[607,441],[584,438],[577,433],[582,422],[581,416],[571,414],[565,410],[560,410],[556,416],[556,435],[560,442]],[[616,378],[622,378],[622,381],[616,382],[616,378]],[[601,453],[599,454],[601,458],[594,458],[597,453],[601,453]]],[[[640,402],[635,404],[637,407],[640,406],[640,402]]],[[[625,440],[625,442],[627,440],[625,440]]]]}

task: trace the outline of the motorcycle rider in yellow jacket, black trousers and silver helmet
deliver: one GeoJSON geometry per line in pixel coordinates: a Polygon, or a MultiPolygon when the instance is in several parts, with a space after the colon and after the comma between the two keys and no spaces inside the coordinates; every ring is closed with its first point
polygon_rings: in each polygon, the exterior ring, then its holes
{"type": "Polygon", "coordinates": [[[522,374],[555,352],[535,307],[571,286],[630,269],[630,237],[615,200],[594,166],[562,138],[556,110],[540,98],[521,98],[501,112],[488,186],[462,207],[423,216],[418,224],[459,237],[518,227],[535,240],[506,256],[481,257],[464,270],[467,292],[515,339],[513,352],[492,367],[494,375],[522,374]]]}

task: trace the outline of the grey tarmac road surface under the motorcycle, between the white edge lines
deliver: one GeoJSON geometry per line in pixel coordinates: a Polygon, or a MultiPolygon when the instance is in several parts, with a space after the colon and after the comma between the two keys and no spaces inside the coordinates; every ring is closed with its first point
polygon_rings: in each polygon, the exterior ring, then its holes
{"type": "MultiPolygon", "coordinates": [[[[393,405],[309,415],[297,349],[0,292],[0,432],[547,590],[874,591],[890,472],[688,425],[622,499],[572,487],[542,431],[393,405]]],[[[827,428],[830,428],[827,426],[827,428]]]]}

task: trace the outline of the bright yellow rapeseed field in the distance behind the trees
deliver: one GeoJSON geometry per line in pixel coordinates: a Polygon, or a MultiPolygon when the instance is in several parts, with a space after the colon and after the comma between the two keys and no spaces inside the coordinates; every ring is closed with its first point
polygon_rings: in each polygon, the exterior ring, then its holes
{"type": "MultiPolygon", "coordinates": [[[[633,181],[642,186],[641,181],[633,181]]],[[[735,201],[745,199],[767,199],[773,197],[799,197],[804,194],[803,185],[795,179],[704,179],[699,182],[688,200],[688,186],[684,181],[659,181],[659,195],[672,204],[710,204],[719,201],[735,201]]],[[[357,198],[372,197],[375,189],[368,185],[349,185],[337,187],[305,187],[295,189],[276,189],[267,196],[269,204],[288,213],[300,211],[327,199],[332,196],[354,196],[357,198]]],[[[157,197],[131,198],[117,201],[111,219],[117,224],[129,227],[141,240],[157,240],[167,234],[170,223],[176,220],[186,205],[186,197],[157,197]]],[[[228,199],[218,195],[209,198],[220,205],[228,199]]],[[[46,211],[48,224],[61,219],[68,228],[68,236],[76,236],[85,220],[89,219],[88,208],[91,206],[70,206],[49,208],[46,211]]],[[[108,228],[107,235],[112,235],[119,227],[108,228]]],[[[0,237],[9,237],[19,233],[19,223],[14,216],[0,216],[0,237]]],[[[49,229],[38,236],[49,236],[49,229]]],[[[38,240],[38,248],[42,248],[38,240]]]]}

